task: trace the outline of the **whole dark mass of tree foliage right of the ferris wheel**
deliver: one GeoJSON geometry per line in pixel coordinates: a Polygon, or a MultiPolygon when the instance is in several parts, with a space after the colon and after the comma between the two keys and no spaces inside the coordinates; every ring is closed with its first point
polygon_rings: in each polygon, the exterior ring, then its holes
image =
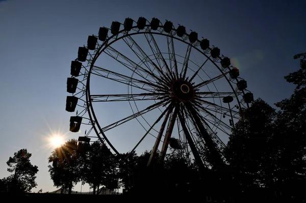
{"type": "MultiPolygon", "coordinates": [[[[290,98],[272,108],[261,99],[248,109],[241,109],[224,154],[236,176],[246,186],[261,186],[297,195],[305,185],[306,175],[306,53],[300,69],[285,76],[296,85],[290,98]],[[302,184],[303,183],[303,184],[302,184]]],[[[301,194],[301,192],[300,192],[301,194]]]]}

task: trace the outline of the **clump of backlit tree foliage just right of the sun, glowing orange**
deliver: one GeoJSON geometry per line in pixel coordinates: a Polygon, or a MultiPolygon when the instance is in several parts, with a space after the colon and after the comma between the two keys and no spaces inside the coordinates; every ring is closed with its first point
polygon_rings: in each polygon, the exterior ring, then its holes
{"type": "Polygon", "coordinates": [[[49,173],[54,186],[69,189],[75,184],[89,184],[96,194],[99,186],[118,188],[118,161],[107,146],[99,141],[79,143],[69,140],[48,157],[49,173]]]}

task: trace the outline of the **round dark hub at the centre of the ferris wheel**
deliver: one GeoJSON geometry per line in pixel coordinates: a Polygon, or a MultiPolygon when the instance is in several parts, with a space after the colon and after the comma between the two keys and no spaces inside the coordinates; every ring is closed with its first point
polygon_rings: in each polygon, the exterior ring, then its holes
{"type": "Polygon", "coordinates": [[[189,102],[194,99],[195,92],[188,81],[179,79],[172,82],[172,94],[177,101],[189,102]]]}

